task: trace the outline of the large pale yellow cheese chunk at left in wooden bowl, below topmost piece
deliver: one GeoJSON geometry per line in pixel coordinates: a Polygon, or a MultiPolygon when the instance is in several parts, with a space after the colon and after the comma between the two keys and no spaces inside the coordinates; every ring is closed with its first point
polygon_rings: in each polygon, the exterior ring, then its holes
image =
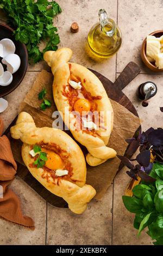
{"type": "Polygon", "coordinates": [[[158,40],[147,40],[146,55],[147,58],[151,59],[151,62],[155,60],[156,54],[160,53],[160,41],[158,40]]]}

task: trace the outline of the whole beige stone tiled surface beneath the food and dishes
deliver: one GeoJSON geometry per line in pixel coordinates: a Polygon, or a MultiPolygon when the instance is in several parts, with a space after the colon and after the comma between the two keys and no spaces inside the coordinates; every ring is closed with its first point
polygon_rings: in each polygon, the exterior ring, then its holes
{"type": "MultiPolygon", "coordinates": [[[[58,0],[62,13],[54,19],[58,26],[60,46],[71,47],[73,61],[101,72],[111,81],[122,72],[131,60],[139,64],[141,74],[135,78],[123,92],[129,97],[143,120],[142,127],[162,127],[163,118],[159,106],[163,106],[163,75],[152,74],[141,63],[140,47],[145,36],[157,29],[162,29],[162,0],[58,0]],[[91,26],[98,21],[98,10],[105,8],[109,16],[121,28],[123,44],[117,57],[104,63],[93,62],[85,53],[86,36],[91,26]],[[70,33],[73,21],[79,23],[80,31],[70,33]],[[139,84],[154,81],[158,85],[158,94],[150,101],[147,108],[137,100],[136,89],[139,84]]],[[[4,22],[4,16],[1,16],[4,22]]],[[[29,66],[21,85],[5,97],[9,101],[8,109],[0,114],[5,127],[16,117],[17,109],[32,86],[35,77],[42,69],[49,70],[44,62],[29,66]]],[[[128,184],[126,170],[119,173],[114,183],[105,193],[101,202],[92,200],[83,215],[72,214],[68,209],[54,208],[46,204],[38,194],[18,178],[12,183],[12,189],[20,196],[24,213],[35,221],[35,231],[18,227],[0,220],[1,245],[151,245],[151,239],[143,232],[137,238],[133,228],[134,217],[123,206],[122,194],[128,184]]]]}

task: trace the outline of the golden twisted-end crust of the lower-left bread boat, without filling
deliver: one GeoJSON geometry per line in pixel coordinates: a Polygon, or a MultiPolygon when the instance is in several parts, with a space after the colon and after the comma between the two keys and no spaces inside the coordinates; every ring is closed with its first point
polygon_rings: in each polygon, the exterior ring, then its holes
{"type": "Polygon", "coordinates": [[[87,203],[95,196],[95,189],[85,184],[86,180],[86,164],[82,150],[73,139],[64,131],[50,127],[37,128],[32,116],[26,112],[18,115],[15,126],[10,129],[11,137],[21,139],[22,158],[29,172],[37,179],[44,187],[53,194],[64,198],[68,203],[68,207],[76,214],[82,214],[86,209],[87,203]],[[43,168],[33,167],[34,159],[30,156],[29,151],[31,145],[39,144],[57,144],[68,155],[68,161],[73,168],[70,180],[55,178],[46,173],[43,168]],[[32,166],[32,167],[31,167],[32,166]]]}

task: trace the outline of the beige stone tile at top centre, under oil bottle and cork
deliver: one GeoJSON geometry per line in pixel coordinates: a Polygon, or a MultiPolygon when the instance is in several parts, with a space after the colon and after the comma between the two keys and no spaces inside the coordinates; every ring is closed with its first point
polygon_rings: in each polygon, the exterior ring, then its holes
{"type": "MultiPolygon", "coordinates": [[[[117,19],[117,1],[111,0],[58,0],[62,13],[54,18],[54,25],[58,27],[60,35],[59,47],[70,47],[73,50],[72,62],[79,63],[90,69],[100,72],[111,81],[115,79],[116,56],[105,60],[103,63],[97,63],[87,57],[85,45],[87,34],[90,28],[98,22],[98,11],[105,8],[110,17],[117,19]],[[79,32],[72,33],[70,27],[72,22],[79,24],[79,32]]],[[[28,70],[49,69],[45,62],[40,62],[34,66],[29,66],[28,70]]]]}

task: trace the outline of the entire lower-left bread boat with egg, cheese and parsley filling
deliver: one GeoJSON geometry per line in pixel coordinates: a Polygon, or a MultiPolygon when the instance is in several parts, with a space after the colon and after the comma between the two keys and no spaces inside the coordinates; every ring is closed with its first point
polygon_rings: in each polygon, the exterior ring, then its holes
{"type": "Polygon", "coordinates": [[[62,197],[76,214],[82,214],[95,196],[86,185],[86,163],[82,150],[64,131],[37,128],[32,116],[18,115],[11,136],[21,139],[22,158],[30,173],[53,194],[62,197]]]}

